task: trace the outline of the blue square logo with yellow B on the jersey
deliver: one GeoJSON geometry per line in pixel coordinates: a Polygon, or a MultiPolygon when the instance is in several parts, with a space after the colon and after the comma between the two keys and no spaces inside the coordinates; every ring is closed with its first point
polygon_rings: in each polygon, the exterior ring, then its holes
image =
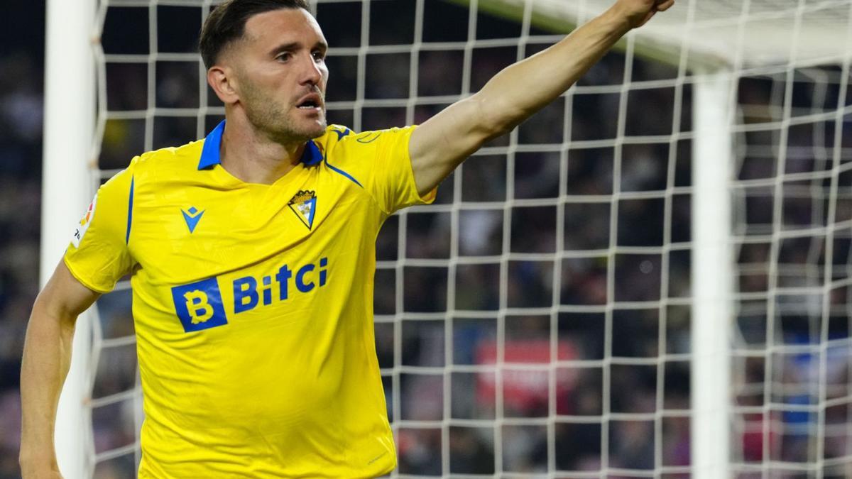
{"type": "Polygon", "coordinates": [[[184,332],[201,331],[227,325],[222,294],[216,278],[171,288],[177,317],[184,332]]]}

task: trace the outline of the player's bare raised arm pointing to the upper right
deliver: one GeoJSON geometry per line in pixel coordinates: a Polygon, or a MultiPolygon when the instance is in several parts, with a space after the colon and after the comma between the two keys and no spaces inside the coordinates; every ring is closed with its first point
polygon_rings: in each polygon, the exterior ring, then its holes
{"type": "Polygon", "coordinates": [[[675,0],[618,0],[549,49],[506,67],[475,95],[453,103],[412,134],[417,191],[428,193],[482,144],[554,101],[630,29],[675,0]]]}

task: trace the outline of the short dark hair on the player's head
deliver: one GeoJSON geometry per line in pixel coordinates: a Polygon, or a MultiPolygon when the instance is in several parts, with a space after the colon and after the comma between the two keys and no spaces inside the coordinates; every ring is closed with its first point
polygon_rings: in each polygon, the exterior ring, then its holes
{"type": "Polygon", "coordinates": [[[243,37],[245,22],[256,14],[279,9],[310,10],[307,0],[227,0],[210,12],[201,27],[199,52],[210,68],[228,43],[243,37]]]}

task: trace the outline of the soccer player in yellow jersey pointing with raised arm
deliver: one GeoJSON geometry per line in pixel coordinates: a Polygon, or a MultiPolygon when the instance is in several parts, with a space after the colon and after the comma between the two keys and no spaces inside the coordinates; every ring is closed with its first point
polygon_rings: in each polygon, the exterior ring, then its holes
{"type": "Polygon", "coordinates": [[[326,125],[328,48],[304,0],[230,0],[200,50],[226,121],[104,184],[32,309],[24,476],[58,477],[74,322],[130,275],[141,477],[366,477],[396,456],[372,324],[375,239],[483,143],[561,95],[674,0],[618,0],[415,128],[326,125]]]}

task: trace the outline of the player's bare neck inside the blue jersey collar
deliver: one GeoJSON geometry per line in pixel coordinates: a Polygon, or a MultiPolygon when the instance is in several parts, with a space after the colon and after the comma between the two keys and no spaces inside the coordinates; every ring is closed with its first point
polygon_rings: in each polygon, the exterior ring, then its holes
{"type": "Polygon", "coordinates": [[[227,118],[220,147],[222,168],[243,182],[271,185],[302,159],[305,142],[279,143],[245,118],[227,118]]]}

